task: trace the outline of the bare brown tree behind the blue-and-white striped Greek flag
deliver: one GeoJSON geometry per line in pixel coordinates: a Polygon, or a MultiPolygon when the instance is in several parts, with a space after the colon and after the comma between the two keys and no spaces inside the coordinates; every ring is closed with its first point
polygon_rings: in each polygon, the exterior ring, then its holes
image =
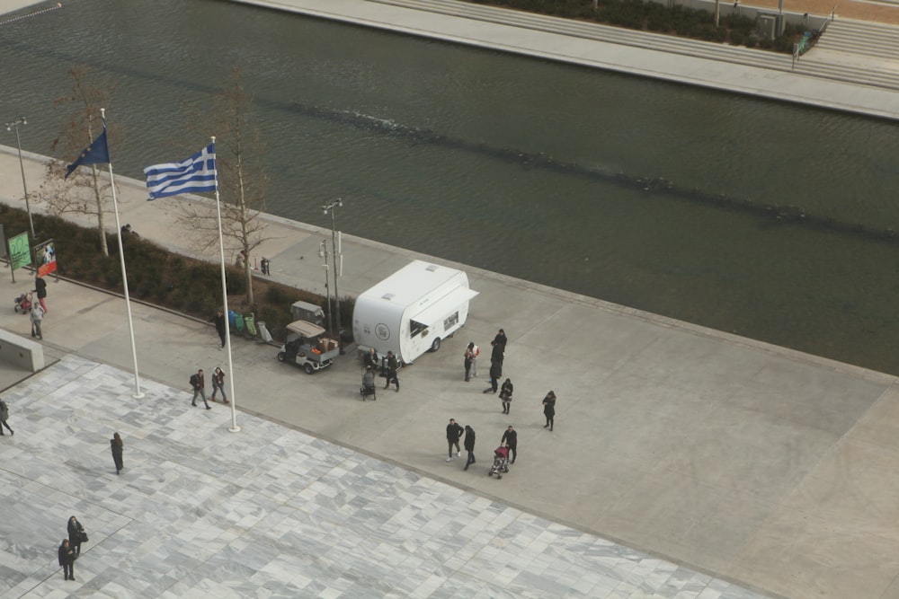
{"type": "MultiPolygon", "coordinates": [[[[216,136],[218,190],[221,198],[222,234],[230,249],[240,257],[246,280],[246,303],[254,304],[253,265],[251,253],[267,238],[265,225],[259,221],[259,210],[265,207],[265,184],[268,181],[259,156],[262,137],[254,125],[253,99],[245,92],[240,66],[231,71],[227,86],[215,97],[215,106],[203,119],[204,129],[216,136]]],[[[209,251],[218,243],[218,219],[214,205],[183,203],[182,225],[199,233],[194,245],[209,251]]]]}

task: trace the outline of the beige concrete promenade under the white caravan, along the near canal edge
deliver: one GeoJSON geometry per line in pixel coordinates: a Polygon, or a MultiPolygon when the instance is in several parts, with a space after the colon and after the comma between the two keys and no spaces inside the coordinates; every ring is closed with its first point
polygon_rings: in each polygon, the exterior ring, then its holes
{"type": "MultiPolygon", "coordinates": [[[[40,161],[27,158],[26,172],[37,187],[40,161]]],[[[13,205],[22,204],[15,199],[18,177],[15,154],[7,148],[0,153],[0,195],[13,205]]],[[[139,233],[174,251],[190,251],[173,221],[180,200],[148,203],[141,182],[117,181],[125,221],[136,228],[139,223],[139,233]]],[[[266,220],[273,239],[260,255],[271,258],[273,277],[320,286],[316,250],[330,232],[266,220]]],[[[358,293],[418,257],[349,236],[344,252],[346,293],[358,293]]],[[[59,260],[65,260],[63,248],[59,260]]],[[[308,376],[278,363],[274,348],[236,339],[233,375],[242,413],[766,595],[899,596],[895,377],[467,271],[480,295],[464,333],[404,369],[401,392],[362,403],[352,355],[308,376]],[[515,383],[511,418],[493,395],[481,392],[483,379],[462,380],[467,340],[486,346],[501,326],[511,339],[503,373],[515,383]],[[548,389],[559,397],[552,433],[543,428],[540,406],[548,389]],[[464,472],[458,462],[444,462],[450,417],[478,432],[479,462],[514,425],[521,448],[514,471],[497,481],[485,476],[483,466],[464,472]]],[[[0,296],[12,303],[30,286],[0,277],[0,296]]],[[[60,283],[50,285],[49,307],[45,346],[51,354],[129,370],[120,300],[60,283]]],[[[0,312],[0,326],[28,330],[12,306],[0,312]]],[[[140,308],[136,327],[138,363],[154,383],[183,389],[193,369],[210,371],[224,359],[206,323],[140,308]]],[[[81,392],[54,398],[82,401],[81,392]]],[[[155,392],[144,403],[167,409],[188,400],[186,391],[177,398],[155,392]]],[[[84,405],[89,410],[90,403],[84,405]]],[[[13,404],[13,412],[21,411],[13,404]]],[[[230,435],[225,410],[217,405],[210,413],[218,414],[218,427],[196,434],[230,435]]],[[[106,420],[110,427],[113,421],[106,420]]],[[[240,424],[256,426],[244,416],[240,424]]],[[[77,464],[71,467],[85,475],[94,470],[77,464]]]]}

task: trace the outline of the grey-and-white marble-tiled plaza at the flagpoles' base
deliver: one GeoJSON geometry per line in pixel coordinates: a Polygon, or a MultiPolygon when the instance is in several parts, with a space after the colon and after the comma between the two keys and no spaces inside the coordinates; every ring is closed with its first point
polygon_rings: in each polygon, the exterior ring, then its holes
{"type": "Polygon", "coordinates": [[[263,418],[229,433],[225,410],[146,388],[67,355],[4,392],[0,597],[762,596],[263,418]],[[69,515],[90,535],[76,582],[56,556],[69,515]]]}

